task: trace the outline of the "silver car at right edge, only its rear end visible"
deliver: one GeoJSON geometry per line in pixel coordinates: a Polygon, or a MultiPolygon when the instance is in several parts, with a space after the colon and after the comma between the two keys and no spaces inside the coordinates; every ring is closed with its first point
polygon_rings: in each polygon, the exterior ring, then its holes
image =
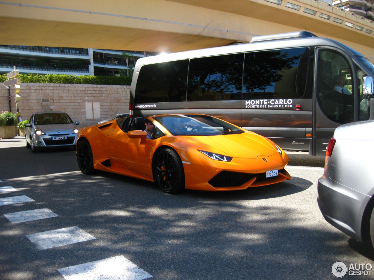
{"type": "Polygon", "coordinates": [[[325,220],[361,241],[374,244],[374,121],[338,127],[330,139],[318,206],[325,220]]]}

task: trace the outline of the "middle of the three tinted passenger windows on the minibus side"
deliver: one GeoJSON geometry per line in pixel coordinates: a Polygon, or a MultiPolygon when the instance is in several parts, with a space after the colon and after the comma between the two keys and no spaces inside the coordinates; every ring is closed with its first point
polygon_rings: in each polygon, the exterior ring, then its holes
{"type": "Polygon", "coordinates": [[[242,99],[243,53],[190,60],[187,100],[242,99]]]}

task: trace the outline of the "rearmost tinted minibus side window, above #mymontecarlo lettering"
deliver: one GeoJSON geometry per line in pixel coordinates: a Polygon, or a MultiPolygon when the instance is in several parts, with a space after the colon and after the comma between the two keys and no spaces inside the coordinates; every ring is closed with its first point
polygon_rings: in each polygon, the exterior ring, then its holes
{"type": "Polygon", "coordinates": [[[135,103],[186,101],[187,71],[187,59],[142,66],[135,103]]]}

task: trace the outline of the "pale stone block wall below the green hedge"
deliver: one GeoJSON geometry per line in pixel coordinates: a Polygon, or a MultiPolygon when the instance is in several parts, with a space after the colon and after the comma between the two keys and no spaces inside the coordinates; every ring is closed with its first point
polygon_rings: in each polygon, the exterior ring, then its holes
{"type": "MultiPolygon", "coordinates": [[[[13,92],[10,93],[12,113],[16,113],[13,92]]],[[[79,121],[82,128],[117,113],[128,113],[130,86],[21,83],[19,95],[23,121],[34,112],[64,111],[73,121],[79,121]]],[[[0,112],[3,111],[9,111],[9,94],[0,83],[0,112]]]]}

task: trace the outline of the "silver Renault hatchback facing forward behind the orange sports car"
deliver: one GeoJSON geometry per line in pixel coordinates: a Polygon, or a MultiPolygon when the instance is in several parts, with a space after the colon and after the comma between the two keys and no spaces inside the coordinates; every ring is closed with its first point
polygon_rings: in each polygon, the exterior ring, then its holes
{"type": "Polygon", "coordinates": [[[26,147],[33,152],[47,147],[75,147],[79,122],[73,122],[65,112],[34,113],[25,124],[26,147]]]}

